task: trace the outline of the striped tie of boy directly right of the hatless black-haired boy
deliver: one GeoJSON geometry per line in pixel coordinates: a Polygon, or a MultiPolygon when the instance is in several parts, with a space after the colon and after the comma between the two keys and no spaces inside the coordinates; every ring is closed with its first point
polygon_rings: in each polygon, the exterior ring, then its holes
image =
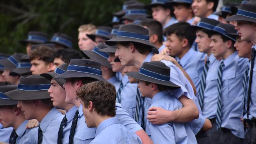
{"type": "Polygon", "coordinates": [[[204,69],[203,69],[203,73],[200,80],[199,92],[197,96],[201,109],[203,108],[203,103],[204,103],[204,90],[205,90],[206,76],[209,69],[209,64],[210,64],[210,61],[208,57],[206,63],[204,64],[204,69]]]}

